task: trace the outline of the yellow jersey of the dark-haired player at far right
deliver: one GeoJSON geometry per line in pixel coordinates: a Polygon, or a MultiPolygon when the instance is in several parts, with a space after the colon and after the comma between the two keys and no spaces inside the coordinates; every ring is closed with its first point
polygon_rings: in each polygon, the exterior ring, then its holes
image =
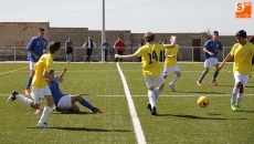
{"type": "Polygon", "coordinates": [[[243,75],[252,72],[252,56],[254,55],[254,44],[247,42],[242,45],[235,43],[230,52],[234,56],[233,71],[239,71],[243,75]]]}

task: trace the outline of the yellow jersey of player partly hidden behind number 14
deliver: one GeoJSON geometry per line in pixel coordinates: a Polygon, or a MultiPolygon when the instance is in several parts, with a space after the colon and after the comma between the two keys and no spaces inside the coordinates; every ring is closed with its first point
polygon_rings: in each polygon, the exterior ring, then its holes
{"type": "Polygon", "coordinates": [[[179,52],[179,45],[178,44],[176,44],[174,48],[172,48],[172,49],[166,49],[165,55],[174,54],[176,56],[174,58],[166,58],[165,59],[165,68],[173,66],[177,64],[178,52],[179,52]]]}

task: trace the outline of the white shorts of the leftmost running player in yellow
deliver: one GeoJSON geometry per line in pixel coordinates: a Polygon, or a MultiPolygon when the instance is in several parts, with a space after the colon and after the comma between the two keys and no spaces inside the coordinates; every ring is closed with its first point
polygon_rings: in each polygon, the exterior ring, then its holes
{"type": "Polygon", "coordinates": [[[31,96],[35,103],[42,103],[44,95],[52,95],[47,85],[44,89],[32,86],[31,96]]]}

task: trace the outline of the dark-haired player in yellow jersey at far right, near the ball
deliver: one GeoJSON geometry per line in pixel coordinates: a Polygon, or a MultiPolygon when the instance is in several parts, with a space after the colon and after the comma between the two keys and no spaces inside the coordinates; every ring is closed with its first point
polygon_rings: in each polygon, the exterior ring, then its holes
{"type": "Polygon", "coordinates": [[[231,109],[235,112],[241,111],[240,104],[243,99],[243,91],[252,72],[254,45],[246,40],[246,35],[244,30],[240,30],[236,33],[237,43],[233,45],[231,52],[219,66],[219,69],[222,69],[224,63],[234,56],[233,73],[235,84],[231,97],[231,109]]]}

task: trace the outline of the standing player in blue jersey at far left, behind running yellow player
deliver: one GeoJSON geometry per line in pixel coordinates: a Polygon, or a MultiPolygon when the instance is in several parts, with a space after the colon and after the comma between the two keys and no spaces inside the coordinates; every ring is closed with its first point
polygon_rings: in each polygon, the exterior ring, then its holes
{"type": "Polygon", "coordinates": [[[27,45],[28,50],[28,60],[29,60],[29,66],[30,66],[30,76],[27,82],[27,88],[24,93],[30,94],[30,86],[33,80],[34,75],[34,64],[39,61],[39,59],[42,56],[42,54],[45,52],[47,40],[44,38],[45,30],[42,28],[38,29],[38,35],[33,37],[29,44],[27,45]]]}

